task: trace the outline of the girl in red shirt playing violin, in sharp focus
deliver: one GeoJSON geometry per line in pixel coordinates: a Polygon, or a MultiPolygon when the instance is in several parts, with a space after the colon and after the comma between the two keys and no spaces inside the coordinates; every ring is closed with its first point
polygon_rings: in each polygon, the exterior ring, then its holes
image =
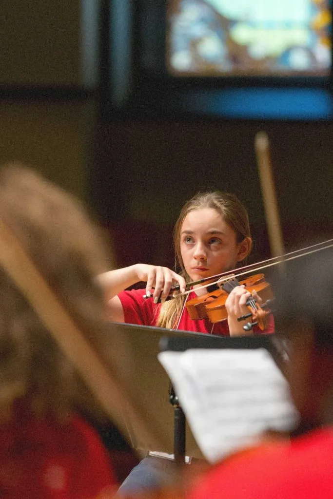
{"type": "MultiPolygon", "coordinates": [[[[191,319],[186,303],[207,293],[205,287],[193,286],[190,294],[166,301],[174,283],[185,292],[186,282],[215,276],[242,266],[251,251],[249,217],[245,207],[233,194],[199,193],[180,212],[174,228],[175,269],[137,263],[101,274],[108,318],[116,322],[159,326],[201,333],[238,336],[248,334],[244,321],[237,319],[249,313],[246,306],[251,293],[236,286],[226,299],[227,320],[211,323],[208,318],[191,319]],[[145,289],[124,290],[139,281],[145,289]],[[144,295],[150,296],[145,299],[144,295]]],[[[212,279],[214,281],[214,279],[212,279]]],[[[256,292],[253,297],[260,301],[256,292]]],[[[273,332],[273,318],[265,333],[273,332]]],[[[254,333],[260,332],[256,326],[254,333]]]]}

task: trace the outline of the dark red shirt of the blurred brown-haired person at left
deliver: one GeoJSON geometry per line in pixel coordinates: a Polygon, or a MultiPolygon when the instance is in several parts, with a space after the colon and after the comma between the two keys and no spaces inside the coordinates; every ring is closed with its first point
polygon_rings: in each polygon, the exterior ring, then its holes
{"type": "Polygon", "coordinates": [[[19,407],[0,442],[1,498],[95,499],[116,486],[107,451],[78,416],[60,424],[19,407]]]}

